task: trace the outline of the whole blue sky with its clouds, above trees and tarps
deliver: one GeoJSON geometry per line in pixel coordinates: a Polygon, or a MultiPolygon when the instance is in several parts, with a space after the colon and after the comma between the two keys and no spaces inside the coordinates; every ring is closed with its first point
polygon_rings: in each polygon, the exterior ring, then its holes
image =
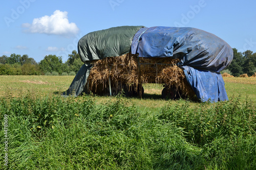
{"type": "Polygon", "coordinates": [[[0,56],[46,55],[77,51],[93,31],[117,26],[193,27],[225,40],[240,52],[256,52],[256,1],[220,0],[20,0],[0,10],[0,56]]]}

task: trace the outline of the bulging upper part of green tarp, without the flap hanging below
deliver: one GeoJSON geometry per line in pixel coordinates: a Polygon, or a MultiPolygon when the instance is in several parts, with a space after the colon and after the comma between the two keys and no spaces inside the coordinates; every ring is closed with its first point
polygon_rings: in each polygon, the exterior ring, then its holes
{"type": "Polygon", "coordinates": [[[78,41],[82,62],[116,57],[131,51],[134,35],[143,26],[122,26],[91,32],[78,41]]]}

